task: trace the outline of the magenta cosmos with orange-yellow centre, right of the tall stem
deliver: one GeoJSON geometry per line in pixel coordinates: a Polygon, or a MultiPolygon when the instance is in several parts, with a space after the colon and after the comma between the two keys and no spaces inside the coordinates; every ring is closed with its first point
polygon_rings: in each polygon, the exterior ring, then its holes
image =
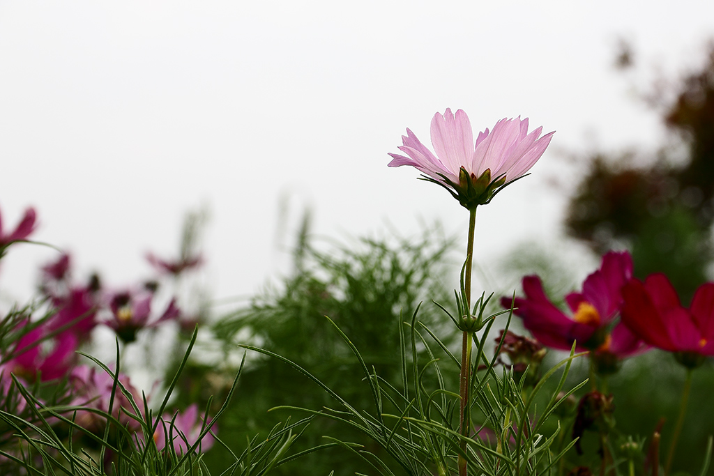
{"type": "MultiPolygon", "coordinates": [[[[621,322],[622,288],[632,277],[632,257],[628,252],[610,252],[603,256],[600,269],[590,274],[581,293],[565,296],[568,315],[548,300],[538,276],[523,278],[526,298],[516,298],[513,313],[533,336],[550,348],[594,352],[599,369],[608,373],[618,360],[646,349],[645,343],[621,322]]],[[[504,308],[511,308],[511,298],[501,298],[504,308]]]]}

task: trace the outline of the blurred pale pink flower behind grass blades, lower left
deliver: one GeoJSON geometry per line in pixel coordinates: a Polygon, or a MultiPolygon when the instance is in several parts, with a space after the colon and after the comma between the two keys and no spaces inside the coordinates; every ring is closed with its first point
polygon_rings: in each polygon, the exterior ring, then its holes
{"type": "MultiPolygon", "coordinates": [[[[132,402],[121,391],[119,384],[131,395],[134,403],[141,402],[141,394],[134,388],[134,385],[131,385],[129,377],[123,373],[119,373],[117,380],[118,384],[114,390],[114,400],[112,400],[114,375],[110,375],[102,369],[89,367],[89,365],[77,365],[69,376],[69,383],[74,390],[71,405],[109,413],[111,403],[111,415],[122,425],[130,427],[132,430],[138,430],[139,422],[129,416],[134,414],[132,402]]],[[[85,410],[77,413],[76,422],[86,430],[97,431],[104,428],[106,418],[85,410]]]]}

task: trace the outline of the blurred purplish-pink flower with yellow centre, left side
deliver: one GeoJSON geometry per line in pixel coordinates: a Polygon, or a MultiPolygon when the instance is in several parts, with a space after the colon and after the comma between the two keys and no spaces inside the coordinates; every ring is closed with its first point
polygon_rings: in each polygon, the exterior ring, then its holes
{"type": "Polygon", "coordinates": [[[136,333],[140,329],[153,328],[166,320],[178,318],[180,311],[176,299],[172,299],[159,318],[151,319],[153,299],[154,293],[149,291],[114,293],[109,298],[111,316],[104,320],[104,324],[114,329],[125,343],[131,343],[136,340],[136,333]]]}

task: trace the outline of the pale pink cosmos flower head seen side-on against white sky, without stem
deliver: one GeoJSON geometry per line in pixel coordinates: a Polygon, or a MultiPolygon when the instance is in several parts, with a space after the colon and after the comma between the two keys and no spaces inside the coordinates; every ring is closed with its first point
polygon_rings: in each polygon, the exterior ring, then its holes
{"type": "Polygon", "coordinates": [[[528,133],[528,118],[506,119],[492,131],[478,133],[473,141],[471,122],[459,109],[446,109],[431,120],[431,145],[436,155],[409,129],[399,150],[390,153],[390,167],[413,166],[424,179],[443,186],[469,210],[491,201],[503,186],[522,177],[538,161],[553,133],[540,137],[542,127],[528,133]]]}

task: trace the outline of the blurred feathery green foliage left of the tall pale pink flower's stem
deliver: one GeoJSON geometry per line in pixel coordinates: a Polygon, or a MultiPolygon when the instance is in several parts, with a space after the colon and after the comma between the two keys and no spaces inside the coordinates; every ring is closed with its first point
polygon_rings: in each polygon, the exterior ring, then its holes
{"type": "MultiPolygon", "coordinates": [[[[231,348],[239,333],[248,333],[262,348],[310,369],[328,388],[339,389],[341,397],[354,407],[369,407],[373,395],[361,382],[363,366],[325,316],[349,335],[366,368],[401,388],[401,313],[414,313],[420,300],[448,296],[443,283],[452,240],[434,227],[418,240],[366,238],[327,252],[317,250],[305,235],[299,242],[302,245],[295,252],[295,274],[280,288],[258,296],[249,308],[223,318],[216,324],[215,334],[231,348]]],[[[423,306],[420,317],[445,336],[444,345],[453,345],[456,334],[438,308],[423,306]]],[[[267,432],[287,415],[268,413],[271,407],[315,409],[334,404],[327,393],[280,361],[249,360],[235,405],[221,425],[223,437],[244,440],[247,432],[267,432]]],[[[456,372],[448,372],[445,378],[456,382],[456,372]]],[[[318,419],[303,433],[298,445],[323,445],[323,435],[343,441],[361,437],[354,428],[318,419]]],[[[358,467],[360,460],[351,452],[327,450],[307,455],[289,469],[276,468],[276,472],[313,475],[334,469],[336,475],[351,474],[353,470],[347,468],[358,467]]]]}

